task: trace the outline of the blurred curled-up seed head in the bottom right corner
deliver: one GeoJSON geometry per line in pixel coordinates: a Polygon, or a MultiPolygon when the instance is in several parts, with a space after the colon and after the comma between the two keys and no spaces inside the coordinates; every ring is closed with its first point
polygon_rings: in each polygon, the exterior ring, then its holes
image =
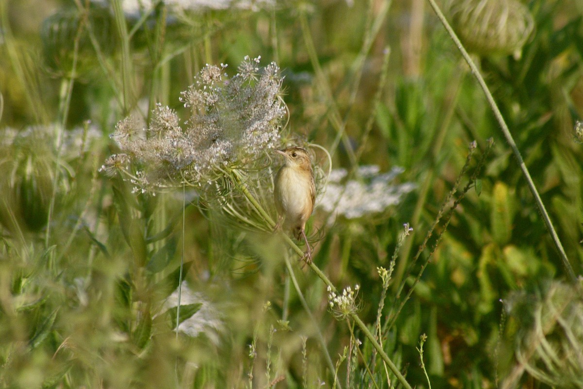
{"type": "Polygon", "coordinates": [[[583,387],[581,283],[554,281],[542,293],[515,292],[505,299],[514,324],[515,365],[501,388],[514,388],[523,373],[554,388],[583,387]]]}

